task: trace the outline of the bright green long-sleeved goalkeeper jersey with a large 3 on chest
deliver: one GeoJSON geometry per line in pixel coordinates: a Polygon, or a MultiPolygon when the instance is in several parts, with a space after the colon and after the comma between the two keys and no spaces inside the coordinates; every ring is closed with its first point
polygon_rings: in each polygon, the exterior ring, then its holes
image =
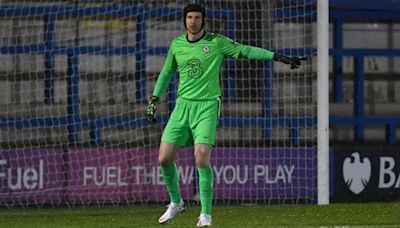
{"type": "Polygon", "coordinates": [[[153,95],[161,97],[173,73],[178,70],[178,97],[189,100],[211,100],[221,96],[220,70],[226,56],[235,59],[272,60],[274,53],[262,48],[242,45],[216,33],[206,32],[196,42],[186,34],[176,37],[168,50],[153,95]]]}

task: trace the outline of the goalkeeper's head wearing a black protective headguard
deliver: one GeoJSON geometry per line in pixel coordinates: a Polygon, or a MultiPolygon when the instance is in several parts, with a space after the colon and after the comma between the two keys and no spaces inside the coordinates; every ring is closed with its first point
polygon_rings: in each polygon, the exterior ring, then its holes
{"type": "Polygon", "coordinates": [[[206,11],[199,4],[188,4],[183,9],[183,24],[191,33],[199,33],[205,25],[206,11]]]}

